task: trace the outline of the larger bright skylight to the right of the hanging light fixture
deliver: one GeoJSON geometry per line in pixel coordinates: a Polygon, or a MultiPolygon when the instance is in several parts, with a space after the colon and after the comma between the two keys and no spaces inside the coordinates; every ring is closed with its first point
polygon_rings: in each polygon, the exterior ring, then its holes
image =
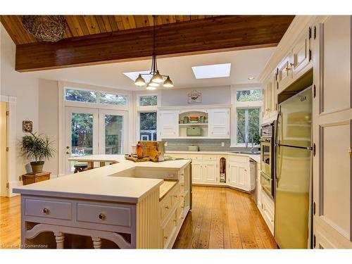
{"type": "Polygon", "coordinates": [[[194,66],[192,70],[196,79],[229,77],[231,63],[194,66]]]}

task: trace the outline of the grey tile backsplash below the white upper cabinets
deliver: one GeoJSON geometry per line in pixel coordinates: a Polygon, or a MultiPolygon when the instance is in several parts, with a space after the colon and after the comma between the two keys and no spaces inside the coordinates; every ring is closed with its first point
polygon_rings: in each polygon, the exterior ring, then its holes
{"type": "Polygon", "coordinates": [[[166,151],[188,151],[188,146],[199,146],[199,151],[246,151],[245,147],[230,147],[230,139],[163,139],[168,142],[166,151]],[[222,142],[224,146],[222,146],[222,142]]]}

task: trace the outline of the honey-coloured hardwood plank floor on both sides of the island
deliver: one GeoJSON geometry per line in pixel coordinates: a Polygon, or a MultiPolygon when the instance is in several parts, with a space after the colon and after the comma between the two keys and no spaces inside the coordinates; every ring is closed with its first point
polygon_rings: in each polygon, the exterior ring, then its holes
{"type": "MultiPolygon", "coordinates": [[[[0,197],[0,249],[20,245],[20,196],[0,197]]],[[[193,187],[193,208],[174,249],[276,249],[249,194],[222,187],[193,187]]]]}

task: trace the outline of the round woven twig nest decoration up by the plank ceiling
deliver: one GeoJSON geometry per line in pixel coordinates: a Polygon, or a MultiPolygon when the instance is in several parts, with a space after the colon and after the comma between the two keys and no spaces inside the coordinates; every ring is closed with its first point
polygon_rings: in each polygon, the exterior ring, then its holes
{"type": "Polygon", "coordinates": [[[22,23],[39,41],[57,42],[65,35],[66,20],[63,15],[22,15],[22,23]]]}

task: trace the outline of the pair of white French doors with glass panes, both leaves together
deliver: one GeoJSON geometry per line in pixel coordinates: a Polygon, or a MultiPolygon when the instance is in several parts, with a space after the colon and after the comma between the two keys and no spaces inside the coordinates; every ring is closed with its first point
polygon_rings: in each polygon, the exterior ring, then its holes
{"type": "Polygon", "coordinates": [[[65,108],[65,173],[72,173],[70,157],[122,154],[127,151],[127,112],[96,108],[65,108]]]}

